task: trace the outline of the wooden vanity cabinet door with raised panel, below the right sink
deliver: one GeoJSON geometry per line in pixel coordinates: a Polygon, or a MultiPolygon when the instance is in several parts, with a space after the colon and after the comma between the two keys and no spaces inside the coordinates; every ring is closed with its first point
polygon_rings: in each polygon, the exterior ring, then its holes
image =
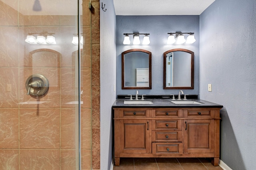
{"type": "Polygon", "coordinates": [[[214,153],[214,120],[184,120],[184,153],[214,153]]]}

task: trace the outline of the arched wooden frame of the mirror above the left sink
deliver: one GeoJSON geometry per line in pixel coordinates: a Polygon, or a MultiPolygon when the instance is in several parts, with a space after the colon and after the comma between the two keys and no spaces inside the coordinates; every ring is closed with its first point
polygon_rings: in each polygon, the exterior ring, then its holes
{"type": "Polygon", "coordinates": [[[151,52],[144,50],[144,49],[130,49],[127,51],[124,51],[122,53],[122,89],[152,89],[152,72],[151,72],[151,52]],[[124,86],[124,55],[130,52],[143,52],[148,54],[148,71],[149,71],[149,86],[148,87],[137,87],[137,86],[131,86],[131,87],[125,87],[124,86]]]}

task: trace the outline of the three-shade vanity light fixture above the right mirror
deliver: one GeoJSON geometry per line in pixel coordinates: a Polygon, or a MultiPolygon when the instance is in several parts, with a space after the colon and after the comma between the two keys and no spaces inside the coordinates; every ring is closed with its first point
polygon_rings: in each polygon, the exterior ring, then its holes
{"type": "Polygon", "coordinates": [[[177,44],[183,44],[183,43],[187,43],[187,44],[192,44],[196,41],[194,33],[182,33],[182,32],[176,32],[176,33],[168,33],[170,34],[167,40],[167,44],[173,44],[173,43],[177,43],[177,44]],[[174,35],[175,34],[175,35],[174,35]],[[185,39],[183,34],[189,34],[187,37],[187,40],[185,39]],[[175,36],[175,37],[174,37],[175,36]],[[176,41],[176,39],[177,41],[176,41]]]}

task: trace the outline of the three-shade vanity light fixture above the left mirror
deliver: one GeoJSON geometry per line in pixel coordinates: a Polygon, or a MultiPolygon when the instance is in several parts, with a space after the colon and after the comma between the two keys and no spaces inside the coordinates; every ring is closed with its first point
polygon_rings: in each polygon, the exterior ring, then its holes
{"type": "Polygon", "coordinates": [[[124,45],[129,45],[131,43],[130,41],[130,37],[129,35],[133,35],[133,44],[134,45],[139,45],[140,44],[140,35],[145,35],[144,38],[143,38],[143,42],[142,44],[143,45],[148,45],[150,43],[149,41],[149,33],[124,33],[124,41],[123,41],[123,44],[124,45]]]}

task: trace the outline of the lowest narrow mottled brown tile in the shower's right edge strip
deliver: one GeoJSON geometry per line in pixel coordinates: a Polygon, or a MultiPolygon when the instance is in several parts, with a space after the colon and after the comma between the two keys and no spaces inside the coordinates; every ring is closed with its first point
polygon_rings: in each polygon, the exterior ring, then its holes
{"type": "Polygon", "coordinates": [[[92,168],[100,169],[100,128],[92,128],[92,168]]]}

